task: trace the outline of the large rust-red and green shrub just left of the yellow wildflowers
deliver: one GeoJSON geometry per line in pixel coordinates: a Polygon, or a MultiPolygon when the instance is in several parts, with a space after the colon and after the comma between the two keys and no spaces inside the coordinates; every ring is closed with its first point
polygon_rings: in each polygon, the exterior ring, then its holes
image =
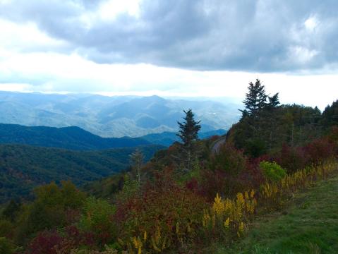
{"type": "Polygon", "coordinates": [[[176,185],[170,176],[161,176],[145,186],[142,195],[119,204],[121,246],[140,253],[188,243],[198,234],[205,207],[204,198],[176,185]]]}

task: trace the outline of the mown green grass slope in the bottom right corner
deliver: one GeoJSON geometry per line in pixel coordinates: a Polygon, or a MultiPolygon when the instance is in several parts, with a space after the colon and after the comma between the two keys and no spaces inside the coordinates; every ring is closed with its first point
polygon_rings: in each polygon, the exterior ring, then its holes
{"type": "Polygon", "coordinates": [[[215,253],[338,253],[338,176],[297,193],[284,210],[256,219],[245,238],[215,253]]]}

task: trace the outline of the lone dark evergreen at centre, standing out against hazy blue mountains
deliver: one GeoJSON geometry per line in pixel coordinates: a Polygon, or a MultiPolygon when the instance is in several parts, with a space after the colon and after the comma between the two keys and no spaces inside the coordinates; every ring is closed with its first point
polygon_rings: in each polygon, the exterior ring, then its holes
{"type": "Polygon", "coordinates": [[[181,147],[181,159],[188,171],[192,168],[192,162],[197,155],[197,147],[195,141],[198,140],[198,131],[200,131],[200,121],[195,121],[194,114],[191,109],[183,111],[186,116],[183,123],[179,124],[179,133],[176,135],[181,138],[183,145],[181,147]]]}

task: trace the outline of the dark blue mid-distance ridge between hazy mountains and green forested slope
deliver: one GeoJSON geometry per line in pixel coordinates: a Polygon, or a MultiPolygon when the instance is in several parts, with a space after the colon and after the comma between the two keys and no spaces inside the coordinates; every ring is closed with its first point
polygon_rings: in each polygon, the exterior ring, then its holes
{"type": "Polygon", "coordinates": [[[150,142],[141,138],[101,138],[75,126],[64,128],[28,127],[3,123],[0,123],[0,143],[59,147],[70,150],[103,150],[150,145],[150,142]]]}

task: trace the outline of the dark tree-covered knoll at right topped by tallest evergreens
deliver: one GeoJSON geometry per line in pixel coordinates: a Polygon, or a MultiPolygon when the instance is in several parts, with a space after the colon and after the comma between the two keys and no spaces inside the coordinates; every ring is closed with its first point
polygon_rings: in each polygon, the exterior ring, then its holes
{"type": "MultiPolygon", "coordinates": [[[[269,97],[260,80],[251,83],[239,123],[228,132],[227,138],[246,154],[259,157],[277,152],[282,145],[296,147],[320,138],[327,126],[325,114],[315,107],[279,103],[279,94],[269,97]]],[[[332,108],[337,107],[334,104],[332,108]]],[[[329,108],[331,108],[329,107],[329,108]]]]}

